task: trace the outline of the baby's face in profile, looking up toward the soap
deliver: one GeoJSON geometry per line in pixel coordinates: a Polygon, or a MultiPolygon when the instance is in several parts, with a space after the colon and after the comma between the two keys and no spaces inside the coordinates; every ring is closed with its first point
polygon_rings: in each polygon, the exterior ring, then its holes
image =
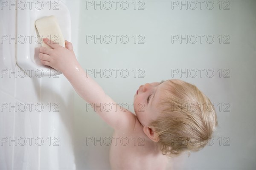
{"type": "Polygon", "coordinates": [[[143,126],[156,120],[160,114],[156,106],[167,83],[168,81],[146,83],[134,95],[134,111],[143,126]]]}

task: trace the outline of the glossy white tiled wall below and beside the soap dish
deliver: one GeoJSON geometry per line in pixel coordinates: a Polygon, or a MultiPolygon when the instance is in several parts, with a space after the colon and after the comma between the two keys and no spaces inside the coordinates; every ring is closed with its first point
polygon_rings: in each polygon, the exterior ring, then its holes
{"type": "MultiPolygon", "coordinates": [[[[15,1],[11,3],[14,4],[15,1]]],[[[69,6],[78,8],[72,4],[69,6]]],[[[14,7],[11,9],[4,7],[3,10],[1,9],[1,35],[15,37],[16,11],[14,7]]],[[[77,14],[71,14],[71,17],[77,18],[77,14]]],[[[77,25],[74,20],[73,27],[77,25]]],[[[76,29],[72,32],[74,40],[77,39],[76,32],[76,29]]],[[[15,46],[14,40],[11,43],[8,41],[1,43],[1,73],[3,69],[7,69],[8,72],[15,70],[19,72],[20,68],[15,64],[15,46]]],[[[72,138],[74,116],[72,86],[62,74],[58,78],[30,78],[16,75],[6,74],[1,77],[1,104],[11,103],[14,106],[16,103],[17,105],[24,103],[27,108],[25,111],[22,111],[23,108],[16,108],[17,111],[12,108],[9,111],[9,108],[4,109],[1,106],[1,141],[6,137],[12,140],[17,137],[17,146],[15,142],[11,144],[5,142],[0,146],[0,169],[76,169],[72,138]],[[33,103],[31,111],[28,103],[33,103]],[[36,104],[42,104],[44,108],[36,111],[36,104]],[[28,137],[33,137],[31,145],[28,137]],[[41,146],[35,143],[37,137],[44,140],[41,146]],[[19,139],[23,138],[26,139],[24,146],[20,144],[22,140],[19,143],[19,139]]],[[[40,144],[40,139],[37,142],[40,144]]]]}

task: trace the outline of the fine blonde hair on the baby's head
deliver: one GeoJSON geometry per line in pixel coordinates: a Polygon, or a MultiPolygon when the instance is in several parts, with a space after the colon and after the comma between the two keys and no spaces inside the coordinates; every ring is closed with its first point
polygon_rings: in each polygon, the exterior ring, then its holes
{"type": "Polygon", "coordinates": [[[167,80],[157,108],[160,116],[151,122],[163,155],[202,149],[218,125],[214,106],[195,85],[167,80]]]}

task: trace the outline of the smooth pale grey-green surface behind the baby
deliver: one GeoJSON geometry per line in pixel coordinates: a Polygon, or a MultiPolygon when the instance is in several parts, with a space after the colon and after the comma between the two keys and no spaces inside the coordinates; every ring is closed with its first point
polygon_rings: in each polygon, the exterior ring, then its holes
{"type": "MultiPolygon", "coordinates": [[[[144,10],[134,10],[134,1],[127,1],[129,8],[123,10],[120,8],[121,2],[119,1],[116,10],[113,2],[109,10],[106,10],[104,5],[102,9],[97,6],[95,10],[94,6],[87,8],[88,1],[81,1],[77,58],[82,67],[96,71],[119,69],[117,77],[114,77],[114,72],[110,78],[107,78],[108,72],[105,72],[106,76],[92,74],[91,77],[115,102],[127,103],[130,111],[133,111],[134,94],[139,86],[146,82],[182,79],[195,84],[214,104],[219,126],[212,145],[209,144],[189,157],[184,155],[173,159],[172,166],[175,169],[255,169],[255,1],[221,1],[221,10],[219,1],[210,1],[215,5],[212,10],[205,6],[208,1],[204,1],[202,10],[199,3],[195,10],[185,10],[184,6],[181,10],[179,6],[172,9],[172,3],[180,1],[165,0],[144,0],[140,1],[140,4],[136,1],[137,8],[145,3],[144,10]],[[230,9],[223,10],[227,5],[230,9]],[[88,35],[96,35],[97,38],[100,35],[110,35],[112,42],[106,43],[109,41],[106,37],[102,43],[100,40],[96,43],[93,40],[86,43],[88,35]],[[119,35],[117,43],[114,43],[112,35],[119,35]],[[129,37],[128,43],[120,42],[122,35],[129,37]],[[143,35],[145,43],[134,44],[134,35],[137,40],[139,35],[143,35]],[[182,40],[182,43],[172,43],[172,35],[182,35],[183,38],[186,35],[204,35],[204,38],[202,43],[199,37],[195,44],[186,44],[185,40],[182,40]],[[215,38],[213,43],[206,42],[207,35],[215,38]],[[228,44],[224,44],[224,40],[227,40],[225,35],[230,37],[228,44]],[[122,69],[128,70],[127,78],[120,75],[122,69]],[[137,69],[135,78],[132,72],[134,69],[137,69]],[[145,71],[144,78],[138,77],[141,73],[138,72],[139,69],[145,71]],[[183,72],[186,69],[195,69],[197,76],[193,78],[193,72],[187,77],[184,74],[172,76],[173,69],[182,69],[183,72]],[[198,69],[205,69],[202,77],[198,69]],[[210,72],[206,75],[207,69],[214,71],[213,77],[209,78],[210,72]],[[226,73],[229,78],[224,77],[226,73]]],[[[90,3],[94,4],[95,1],[90,3]]],[[[104,4],[104,1],[96,3],[104,4]]],[[[207,3],[209,8],[210,3],[207,3]]],[[[109,7],[109,3],[105,5],[106,8],[109,7]]],[[[111,137],[112,128],[92,109],[88,109],[86,102],[77,95],[75,109],[76,155],[79,157],[76,167],[110,168],[109,146],[101,146],[100,142],[97,142],[96,146],[93,143],[87,145],[86,139],[96,137],[100,140],[100,137],[111,137]]]]}

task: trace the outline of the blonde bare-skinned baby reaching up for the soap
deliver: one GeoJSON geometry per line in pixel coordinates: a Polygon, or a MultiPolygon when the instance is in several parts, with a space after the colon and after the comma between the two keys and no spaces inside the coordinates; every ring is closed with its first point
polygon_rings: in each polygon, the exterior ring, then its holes
{"type": "MultiPolygon", "coordinates": [[[[110,163],[112,169],[165,169],[167,156],[198,151],[211,138],[217,118],[210,100],[195,85],[172,79],[141,85],[134,95],[135,115],[116,105],[79,65],[73,46],[66,48],[49,39],[53,49],[41,47],[44,65],[61,71],[76,92],[88,103],[111,104],[111,111],[96,107],[96,112],[114,128],[110,163]]],[[[95,105],[93,105],[95,106],[95,105]]]]}

